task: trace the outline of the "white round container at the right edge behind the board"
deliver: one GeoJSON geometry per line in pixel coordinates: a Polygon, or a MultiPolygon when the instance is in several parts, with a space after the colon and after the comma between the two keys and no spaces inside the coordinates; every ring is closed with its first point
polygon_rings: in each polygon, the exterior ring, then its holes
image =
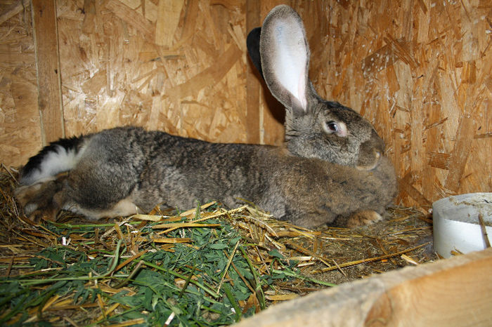
{"type": "Polygon", "coordinates": [[[432,212],[434,249],[442,257],[451,257],[451,251],[469,253],[486,248],[479,213],[492,243],[492,193],[449,196],[432,203],[432,212]]]}

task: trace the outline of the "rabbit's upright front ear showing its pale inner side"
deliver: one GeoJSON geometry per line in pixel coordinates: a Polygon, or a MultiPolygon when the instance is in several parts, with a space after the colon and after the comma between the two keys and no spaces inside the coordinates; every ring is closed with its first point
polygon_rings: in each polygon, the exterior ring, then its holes
{"type": "Polygon", "coordinates": [[[261,27],[261,67],[271,93],[297,115],[306,113],[309,46],[299,15],[289,6],[273,8],[261,27]]]}

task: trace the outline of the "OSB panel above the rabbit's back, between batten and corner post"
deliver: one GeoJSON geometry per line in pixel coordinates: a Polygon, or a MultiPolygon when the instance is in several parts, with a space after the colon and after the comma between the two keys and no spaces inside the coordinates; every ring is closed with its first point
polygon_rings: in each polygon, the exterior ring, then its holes
{"type": "Polygon", "coordinates": [[[134,124],[245,142],[244,9],[201,0],[57,1],[67,134],[134,124]]]}

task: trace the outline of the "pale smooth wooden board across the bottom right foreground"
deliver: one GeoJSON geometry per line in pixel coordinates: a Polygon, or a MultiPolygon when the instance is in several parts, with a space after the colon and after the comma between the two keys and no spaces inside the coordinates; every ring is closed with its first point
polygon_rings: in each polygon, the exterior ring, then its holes
{"type": "Polygon", "coordinates": [[[274,305],[237,326],[491,326],[492,248],[274,305]]]}

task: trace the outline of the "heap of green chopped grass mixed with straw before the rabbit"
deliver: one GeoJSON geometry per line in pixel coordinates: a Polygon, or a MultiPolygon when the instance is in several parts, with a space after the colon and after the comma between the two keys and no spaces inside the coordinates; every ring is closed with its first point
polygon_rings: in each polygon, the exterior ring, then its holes
{"type": "Polygon", "coordinates": [[[273,281],[302,276],[278,251],[271,251],[270,273],[259,272],[248,255],[254,244],[229,219],[203,219],[197,210],[193,219],[178,221],[183,227],[172,220],[169,229],[165,221],[129,220],[118,227],[46,222],[41,232],[52,245],[18,274],[0,278],[0,325],[62,323],[56,314],[62,301],[60,310],[67,303],[88,308],[78,323],[89,326],[214,326],[251,316],[266,307],[263,292],[273,281]],[[204,227],[189,227],[190,220],[204,227]],[[162,237],[174,243],[153,241],[162,237]]]}

